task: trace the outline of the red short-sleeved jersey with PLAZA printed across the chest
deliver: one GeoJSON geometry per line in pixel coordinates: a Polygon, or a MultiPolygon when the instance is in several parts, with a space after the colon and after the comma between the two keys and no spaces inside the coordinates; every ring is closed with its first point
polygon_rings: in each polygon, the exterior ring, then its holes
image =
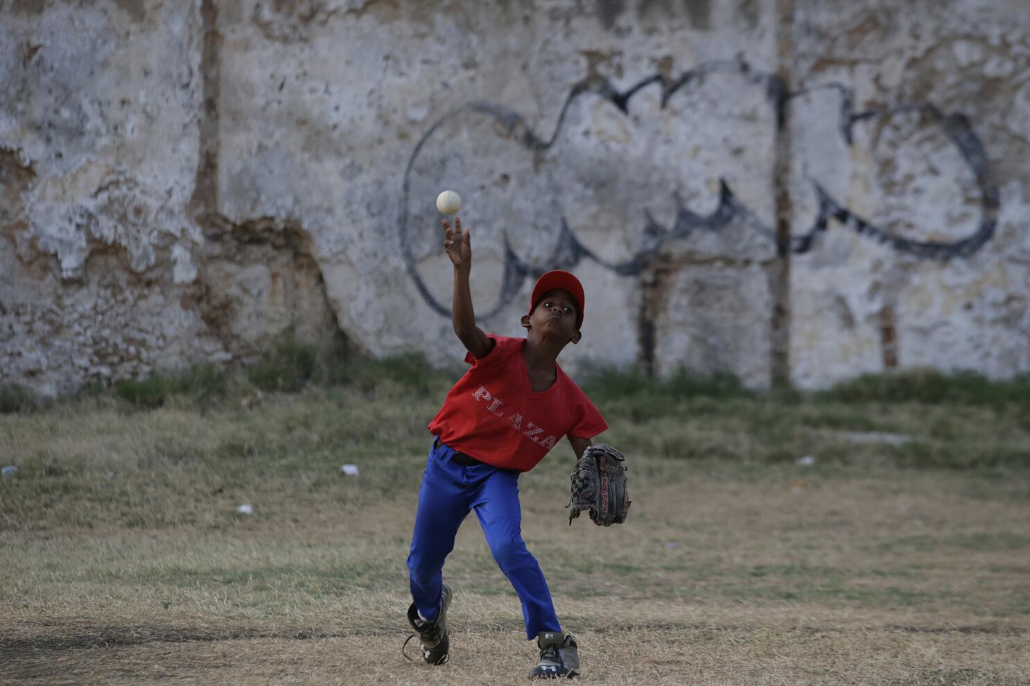
{"type": "Polygon", "coordinates": [[[546,390],[529,386],[524,338],[489,335],[483,358],[467,353],[472,369],[447,391],[430,432],[458,452],[506,470],[528,472],[566,434],[593,438],[608,428],[597,408],[557,363],[546,390]]]}

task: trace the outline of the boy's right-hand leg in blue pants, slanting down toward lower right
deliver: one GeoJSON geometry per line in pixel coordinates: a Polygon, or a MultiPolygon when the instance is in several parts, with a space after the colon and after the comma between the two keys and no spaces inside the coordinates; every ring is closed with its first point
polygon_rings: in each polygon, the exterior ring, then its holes
{"type": "Polygon", "coordinates": [[[551,591],[544,573],[522,540],[522,511],[518,502],[518,473],[495,470],[472,504],[490,545],[493,559],[505,573],[522,603],[526,639],[542,631],[560,633],[551,591]]]}

